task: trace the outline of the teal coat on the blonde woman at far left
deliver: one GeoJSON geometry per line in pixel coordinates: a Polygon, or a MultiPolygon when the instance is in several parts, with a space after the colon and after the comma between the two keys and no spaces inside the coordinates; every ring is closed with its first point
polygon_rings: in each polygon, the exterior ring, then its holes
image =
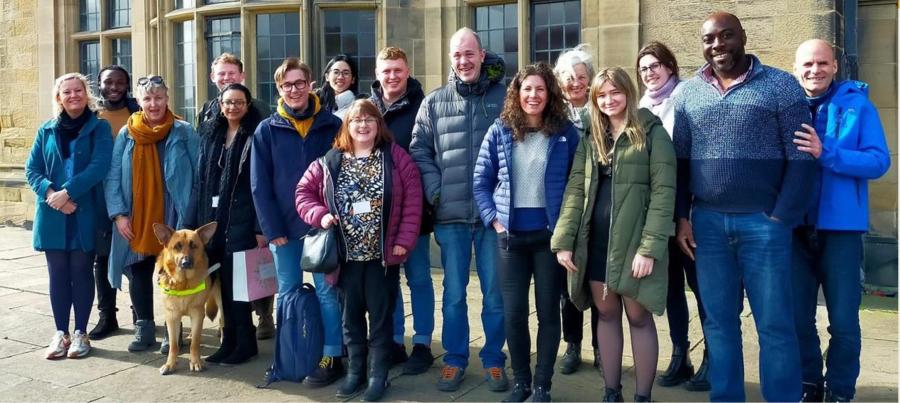
{"type": "Polygon", "coordinates": [[[112,156],[112,129],[90,111],[90,119],[75,138],[74,170],[67,178],[65,162],[57,143],[57,120],[45,122],[37,131],[31,154],[25,163],[28,185],[36,194],[34,210],[33,244],[36,250],[66,249],[66,215],[51,208],[45,201],[47,189],[66,189],[69,198],[78,205],[75,209],[78,241],[81,249],[95,249],[97,211],[103,207],[103,198],[95,189],[103,187],[103,178],[109,171],[112,156]]]}

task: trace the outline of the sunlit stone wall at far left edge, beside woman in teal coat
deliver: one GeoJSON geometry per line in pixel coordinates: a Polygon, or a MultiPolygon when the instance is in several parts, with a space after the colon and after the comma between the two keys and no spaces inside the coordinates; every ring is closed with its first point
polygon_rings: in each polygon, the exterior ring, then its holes
{"type": "Polygon", "coordinates": [[[39,112],[38,5],[0,0],[0,9],[0,224],[22,224],[34,203],[22,167],[46,118],[39,112]]]}

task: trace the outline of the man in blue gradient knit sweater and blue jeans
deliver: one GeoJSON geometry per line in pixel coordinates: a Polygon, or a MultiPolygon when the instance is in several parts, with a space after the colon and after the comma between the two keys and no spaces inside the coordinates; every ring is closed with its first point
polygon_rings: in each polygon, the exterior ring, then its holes
{"type": "Polygon", "coordinates": [[[790,312],[791,228],[817,175],[793,145],[810,123],[787,72],[744,52],[740,20],[714,13],[701,28],[707,64],[675,101],[677,240],[696,255],[707,320],[712,401],[743,401],[742,286],[759,336],[763,397],[798,401],[799,347],[790,312]]]}

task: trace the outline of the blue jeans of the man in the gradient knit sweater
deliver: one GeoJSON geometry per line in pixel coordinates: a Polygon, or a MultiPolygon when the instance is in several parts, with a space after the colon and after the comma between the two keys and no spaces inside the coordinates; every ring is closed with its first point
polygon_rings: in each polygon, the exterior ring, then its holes
{"type": "Polygon", "coordinates": [[[706,321],[711,401],[744,401],[741,342],[741,280],[759,336],[759,373],[763,398],[799,401],[800,352],[789,312],[791,229],[764,213],[693,212],[697,242],[697,280],[706,321]]]}

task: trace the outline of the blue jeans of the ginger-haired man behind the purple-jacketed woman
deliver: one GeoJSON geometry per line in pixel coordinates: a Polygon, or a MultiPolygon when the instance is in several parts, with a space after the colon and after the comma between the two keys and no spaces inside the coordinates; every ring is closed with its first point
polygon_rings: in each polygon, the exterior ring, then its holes
{"type": "MultiPolygon", "coordinates": [[[[409,253],[403,270],[406,285],[409,286],[413,311],[413,344],[431,346],[434,333],[434,283],[431,281],[431,235],[422,235],[416,247],[409,253]]],[[[394,342],[403,344],[404,329],[403,293],[397,288],[397,302],[394,308],[394,342]]]]}

